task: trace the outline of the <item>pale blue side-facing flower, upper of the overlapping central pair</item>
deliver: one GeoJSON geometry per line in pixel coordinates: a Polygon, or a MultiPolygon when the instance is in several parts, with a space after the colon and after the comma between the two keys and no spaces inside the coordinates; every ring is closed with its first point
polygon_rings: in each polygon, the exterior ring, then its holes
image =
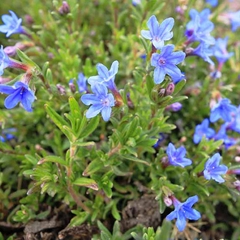
{"type": "Polygon", "coordinates": [[[90,85],[93,85],[95,83],[101,83],[104,84],[106,87],[108,87],[111,91],[115,92],[117,91],[117,87],[115,85],[115,75],[118,72],[118,61],[114,61],[112,63],[112,66],[110,70],[107,69],[106,66],[104,66],[101,63],[97,64],[97,76],[92,76],[88,79],[88,83],[90,85]]]}

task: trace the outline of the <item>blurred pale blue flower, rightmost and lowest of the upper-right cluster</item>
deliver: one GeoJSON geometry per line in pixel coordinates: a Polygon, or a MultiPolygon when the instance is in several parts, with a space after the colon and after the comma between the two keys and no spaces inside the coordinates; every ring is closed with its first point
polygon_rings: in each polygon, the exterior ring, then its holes
{"type": "Polygon", "coordinates": [[[228,37],[218,38],[216,39],[215,45],[212,47],[213,56],[216,57],[219,63],[224,63],[233,56],[233,52],[229,53],[227,51],[227,42],[228,37]]]}

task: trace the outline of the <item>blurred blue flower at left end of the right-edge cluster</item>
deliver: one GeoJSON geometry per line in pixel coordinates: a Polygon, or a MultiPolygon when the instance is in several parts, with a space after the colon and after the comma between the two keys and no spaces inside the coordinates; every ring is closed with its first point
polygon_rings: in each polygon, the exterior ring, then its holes
{"type": "Polygon", "coordinates": [[[208,119],[204,119],[201,124],[198,124],[195,129],[195,133],[193,135],[193,142],[195,144],[198,144],[201,142],[203,136],[205,136],[207,139],[212,138],[215,134],[215,131],[208,127],[209,121],[208,119]]]}

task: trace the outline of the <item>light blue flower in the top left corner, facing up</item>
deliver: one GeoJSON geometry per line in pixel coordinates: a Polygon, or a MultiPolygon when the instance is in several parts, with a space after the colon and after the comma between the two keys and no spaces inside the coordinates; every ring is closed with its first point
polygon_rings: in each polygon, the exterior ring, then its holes
{"type": "Polygon", "coordinates": [[[22,28],[22,19],[18,18],[17,15],[13,11],[9,11],[11,16],[2,15],[2,21],[4,25],[0,25],[0,32],[6,33],[6,37],[14,33],[22,33],[26,34],[25,30],[22,28]]]}

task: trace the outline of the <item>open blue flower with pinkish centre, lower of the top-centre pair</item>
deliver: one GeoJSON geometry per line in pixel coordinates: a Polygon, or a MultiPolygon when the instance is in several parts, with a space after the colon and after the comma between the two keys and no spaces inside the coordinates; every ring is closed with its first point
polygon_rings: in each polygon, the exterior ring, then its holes
{"type": "Polygon", "coordinates": [[[154,82],[161,83],[166,74],[168,74],[173,81],[176,81],[182,76],[180,69],[176,66],[185,58],[185,53],[182,51],[173,52],[174,45],[166,45],[161,49],[161,53],[153,53],[151,65],[156,67],[154,69],[154,82]]]}

